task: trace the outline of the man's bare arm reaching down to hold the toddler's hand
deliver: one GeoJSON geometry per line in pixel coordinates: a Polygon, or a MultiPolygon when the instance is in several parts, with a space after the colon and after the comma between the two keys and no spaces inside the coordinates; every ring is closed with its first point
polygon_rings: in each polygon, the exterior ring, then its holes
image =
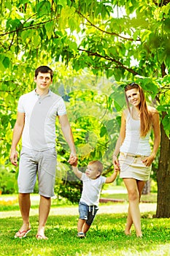
{"type": "Polygon", "coordinates": [[[73,138],[73,135],[72,135],[72,129],[70,127],[67,115],[58,116],[58,119],[59,119],[59,122],[61,124],[61,129],[62,129],[62,132],[63,132],[63,136],[64,136],[66,142],[68,143],[70,151],[71,151],[68,162],[72,165],[73,163],[77,162],[76,148],[75,148],[75,145],[74,145],[74,138],[73,138]]]}

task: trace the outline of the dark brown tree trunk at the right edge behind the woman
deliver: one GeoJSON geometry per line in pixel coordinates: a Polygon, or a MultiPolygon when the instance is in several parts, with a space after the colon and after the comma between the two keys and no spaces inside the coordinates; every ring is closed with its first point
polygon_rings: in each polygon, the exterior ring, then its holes
{"type": "MultiPolygon", "coordinates": [[[[166,113],[163,113],[164,118],[166,113]]],[[[161,124],[161,154],[157,172],[158,198],[155,217],[170,217],[170,140],[161,124]]]]}

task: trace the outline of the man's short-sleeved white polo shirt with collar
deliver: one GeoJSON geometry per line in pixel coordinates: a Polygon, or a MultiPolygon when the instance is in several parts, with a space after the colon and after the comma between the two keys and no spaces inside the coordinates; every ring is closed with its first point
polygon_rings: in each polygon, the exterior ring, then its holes
{"type": "Polygon", "coordinates": [[[63,99],[49,91],[44,97],[31,91],[18,102],[18,112],[25,113],[22,146],[36,151],[55,147],[56,116],[66,114],[63,99]]]}

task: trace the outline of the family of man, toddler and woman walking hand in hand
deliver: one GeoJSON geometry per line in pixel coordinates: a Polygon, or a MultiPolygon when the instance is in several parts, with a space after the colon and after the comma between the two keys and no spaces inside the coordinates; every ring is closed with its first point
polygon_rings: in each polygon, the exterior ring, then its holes
{"type": "Polygon", "coordinates": [[[155,108],[147,106],[142,87],[136,83],[125,86],[127,109],[123,111],[120,136],[112,157],[114,172],[109,177],[102,176],[103,165],[94,160],[88,163],[85,173],[77,168],[77,154],[66,106],[63,99],[50,90],[53,83],[53,70],[40,66],[35,70],[36,88],[23,94],[18,102],[18,116],[12,135],[10,160],[18,166],[17,146],[22,137],[18,172],[18,200],[23,224],[15,233],[15,238],[25,238],[31,231],[29,212],[30,194],[34,192],[36,176],[39,184],[39,225],[36,239],[47,239],[45,225],[50,213],[51,197],[55,185],[55,121],[61,124],[63,136],[70,148],[69,164],[82,181],[82,195],[79,203],[80,218],[77,223],[77,236],[84,238],[98,211],[101,188],[115,181],[117,173],[123,178],[128,191],[128,218],[125,235],[131,234],[134,224],[136,236],[142,237],[139,200],[145,181],[150,178],[152,161],[160,144],[159,115],[155,108]],[[150,151],[150,133],[154,142],[150,151]]]}

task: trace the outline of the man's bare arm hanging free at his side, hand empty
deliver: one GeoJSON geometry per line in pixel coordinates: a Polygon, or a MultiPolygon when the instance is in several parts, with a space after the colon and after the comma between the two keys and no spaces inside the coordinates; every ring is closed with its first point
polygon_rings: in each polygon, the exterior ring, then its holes
{"type": "Polygon", "coordinates": [[[25,124],[25,113],[18,112],[17,121],[15,122],[15,127],[13,130],[12,135],[12,146],[11,146],[11,153],[10,153],[10,160],[12,165],[18,166],[18,152],[16,148],[18,146],[18,142],[23,133],[23,127],[25,124]]]}

